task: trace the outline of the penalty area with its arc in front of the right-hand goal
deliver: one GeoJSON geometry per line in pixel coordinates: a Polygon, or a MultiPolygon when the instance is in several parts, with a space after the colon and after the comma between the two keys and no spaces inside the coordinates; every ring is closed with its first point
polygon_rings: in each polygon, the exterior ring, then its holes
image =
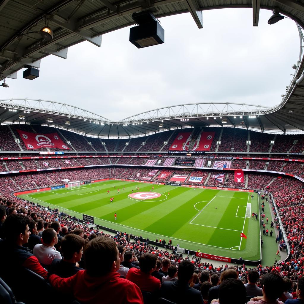
{"type": "Polygon", "coordinates": [[[216,195],[209,202],[196,203],[200,210],[189,224],[223,230],[243,231],[244,220],[250,214],[251,204],[246,198],[216,195]],[[248,212],[249,209],[249,212],[248,212]]]}

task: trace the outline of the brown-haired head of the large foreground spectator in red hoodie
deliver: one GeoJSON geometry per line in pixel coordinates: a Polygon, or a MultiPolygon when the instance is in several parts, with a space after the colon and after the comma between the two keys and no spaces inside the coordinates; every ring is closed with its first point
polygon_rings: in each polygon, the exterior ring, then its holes
{"type": "Polygon", "coordinates": [[[96,237],[88,243],[84,252],[88,275],[100,277],[119,269],[119,251],[114,240],[109,237],[96,237]]]}

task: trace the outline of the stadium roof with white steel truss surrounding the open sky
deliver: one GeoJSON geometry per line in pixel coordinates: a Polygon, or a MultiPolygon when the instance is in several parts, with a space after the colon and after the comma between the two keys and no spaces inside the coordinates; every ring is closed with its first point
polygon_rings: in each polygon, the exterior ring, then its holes
{"type": "Polygon", "coordinates": [[[276,7],[281,14],[298,24],[300,36],[300,53],[293,80],[282,95],[282,101],[278,101],[279,105],[273,108],[199,103],[156,109],[112,121],[57,102],[14,99],[1,101],[0,123],[49,124],[100,137],[133,137],[178,127],[222,125],[274,133],[302,132],[303,3],[302,0],[0,0],[0,79],[16,78],[17,72],[27,65],[39,68],[40,60],[49,54],[66,58],[68,47],[85,40],[100,46],[102,34],[134,24],[132,14],[143,10],[149,10],[156,18],[190,12],[197,26],[202,28],[202,11],[207,9],[252,8],[253,26],[257,26],[260,8],[272,10],[276,7]],[[50,41],[42,40],[39,33],[46,24],[54,32],[50,41]],[[28,111],[30,113],[25,113],[28,111]]]}

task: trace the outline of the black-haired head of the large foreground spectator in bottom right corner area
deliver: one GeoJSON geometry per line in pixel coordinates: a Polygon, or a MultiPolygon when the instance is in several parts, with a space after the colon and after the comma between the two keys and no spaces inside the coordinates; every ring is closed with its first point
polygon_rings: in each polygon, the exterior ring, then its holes
{"type": "Polygon", "coordinates": [[[283,293],[284,281],[279,275],[273,272],[266,273],[262,276],[261,286],[263,296],[266,297],[269,301],[275,301],[283,293]]]}

